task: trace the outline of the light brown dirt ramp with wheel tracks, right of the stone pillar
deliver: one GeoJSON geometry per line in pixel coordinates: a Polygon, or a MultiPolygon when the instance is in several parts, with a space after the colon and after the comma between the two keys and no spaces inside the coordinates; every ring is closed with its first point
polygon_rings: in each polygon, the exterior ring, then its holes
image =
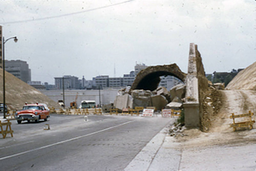
{"type": "MultiPolygon", "coordinates": [[[[231,113],[243,114],[248,113],[250,110],[254,113],[252,120],[255,120],[256,91],[223,90],[219,91],[219,93],[223,95],[222,107],[220,108],[219,112],[217,112],[218,109],[216,109],[215,112],[212,111],[213,115],[205,118],[210,122],[210,124],[207,125],[207,133],[201,132],[198,129],[185,130],[185,136],[178,137],[176,139],[177,142],[182,142],[183,148],[204,147],[210,145],[237,145],[240,143],[256,143],[256,123],[253,124],[254,129],[252,130],[240,129],[239,131],[233,132],[232,127],[230,127],[232,119],[229,118],[231,113]]],[[[217,97],[218,93],[213,96],[214,97],[212,97],[212,99],[219,98],[217,97]]],[[[206,99],[207,97],[208,96],[205,96],[206,99]]]]}

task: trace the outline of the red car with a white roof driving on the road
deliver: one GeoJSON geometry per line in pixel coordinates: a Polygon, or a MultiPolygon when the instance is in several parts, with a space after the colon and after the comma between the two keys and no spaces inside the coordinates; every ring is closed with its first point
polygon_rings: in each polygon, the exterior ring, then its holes
{"type": "Polygon", "coordinates": [[[22,111],[17,111],[15,114],[15,119],[18,123],[22,123],[22,121],[27,120],[30,122],[34,120],[35,122],[39,122],[40,119],[47,119],[50,117],[50,111],[45,109],[45,106],[42,104],[27,104],[23,106],[22,111]]]}

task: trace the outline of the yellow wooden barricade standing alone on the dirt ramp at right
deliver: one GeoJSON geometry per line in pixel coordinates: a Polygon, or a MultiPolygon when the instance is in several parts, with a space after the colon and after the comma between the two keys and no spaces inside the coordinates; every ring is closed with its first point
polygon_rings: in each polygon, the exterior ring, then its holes
{"type": "Polygon", "coordinates": [[[253,128],[253,123],[255,123],[255,120],[251,120],[251,117],[253,116],[253,113],[249,111],[246,114],[241,115],[234,115],[234,113],[231,114],[229,117],[230,119],[233,119],[233,123],[230,124],[231,127],[233,127],[233,131],[236,131],[238,127],[248,127],[250,130],[253,128]],[[235,118],[243,118],[243,117],[249,117],[248,121],[243,122],[235,122],[235,118]]]}

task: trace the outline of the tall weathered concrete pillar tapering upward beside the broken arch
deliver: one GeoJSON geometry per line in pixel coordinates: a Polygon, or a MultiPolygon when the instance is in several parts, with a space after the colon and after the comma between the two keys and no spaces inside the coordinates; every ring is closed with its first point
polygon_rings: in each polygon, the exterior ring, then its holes
{"type": "Polygon", "coordinates": [[[201,55],[197,45],[189,47],[188,71],[186,76],[186,96],[183,103],[186,127],[199,127],[202,117],[203,92],[208,90],[201,55]]]}

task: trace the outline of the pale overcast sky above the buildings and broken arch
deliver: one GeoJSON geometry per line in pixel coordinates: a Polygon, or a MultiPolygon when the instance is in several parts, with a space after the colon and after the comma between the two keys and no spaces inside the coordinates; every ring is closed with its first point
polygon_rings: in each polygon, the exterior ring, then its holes
{"type": "Polygon", "coordinates": [[[256,61],[254,0],[95,0],[0,2],[6,60],[27,61],[32,81],[122,77],[136,63],[177,63],[187,73],[189,44],[206,73],[256,61]]]}

